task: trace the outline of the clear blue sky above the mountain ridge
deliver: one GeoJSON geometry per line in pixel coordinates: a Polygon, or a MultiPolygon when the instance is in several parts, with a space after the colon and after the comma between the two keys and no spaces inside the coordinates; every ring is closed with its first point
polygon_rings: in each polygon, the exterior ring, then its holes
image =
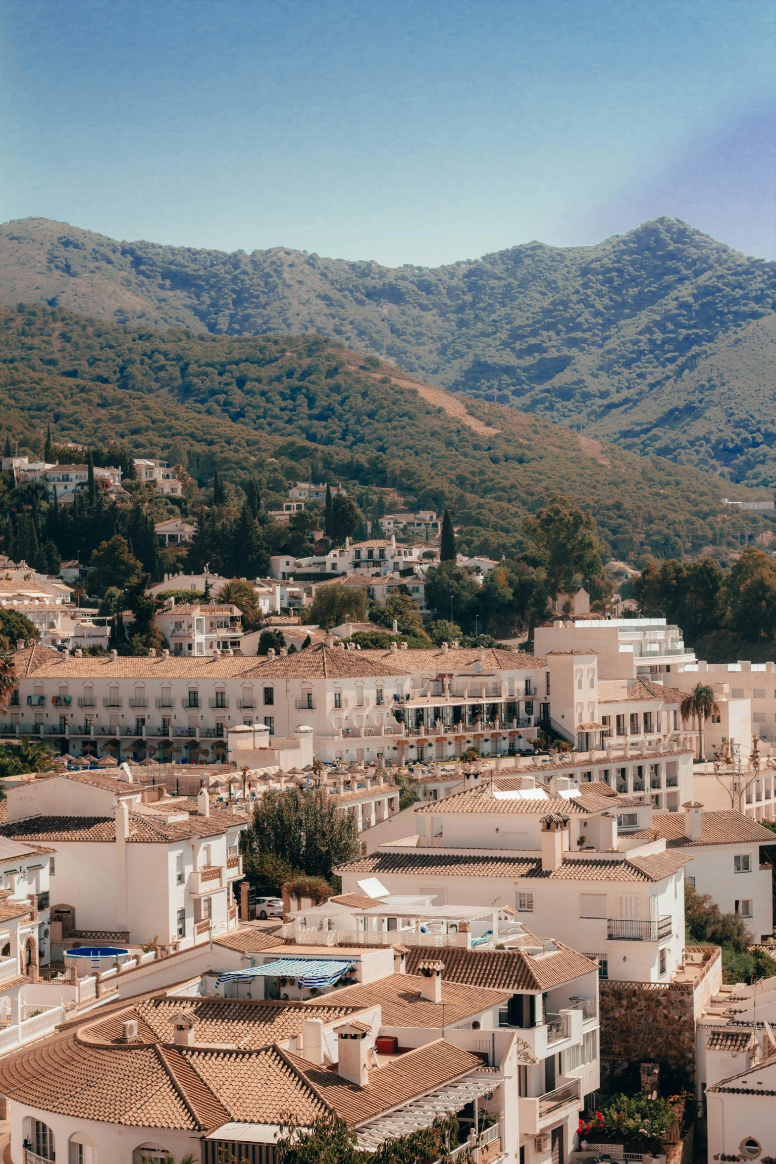
{"type": "Polygon", "coordinates": [[[435,265],[776,257],[771,0],[0,0],[0,218],[435,265]]]}

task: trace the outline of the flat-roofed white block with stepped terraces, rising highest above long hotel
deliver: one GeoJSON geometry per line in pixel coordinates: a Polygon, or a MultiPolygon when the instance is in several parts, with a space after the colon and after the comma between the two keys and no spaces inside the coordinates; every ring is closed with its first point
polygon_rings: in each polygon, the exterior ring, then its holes
{"type": "Polygon", "coordinates": [[[556,619],[551,626],[537,626],[536,654],[550,651],[589,651],[598,655],[599,679],[656,679],[695,662],[695,651],[685,647],[678,626],[664,618],[577,618],[556,619]]]}

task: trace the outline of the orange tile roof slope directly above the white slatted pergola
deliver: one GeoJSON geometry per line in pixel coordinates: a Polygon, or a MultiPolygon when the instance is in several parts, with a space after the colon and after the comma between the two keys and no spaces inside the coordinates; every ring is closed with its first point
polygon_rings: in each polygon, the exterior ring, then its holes
{"type": "Polygon", "coordinates": [[[355,1126],[482,1066],[476,1055],[462,1051],[442,1038],[370,1071],[368,1087],[357,1087],[333,1071],[312,1066],[296,1055],[286,1055],[286,1058],[327,1106],[355,1126]]]}

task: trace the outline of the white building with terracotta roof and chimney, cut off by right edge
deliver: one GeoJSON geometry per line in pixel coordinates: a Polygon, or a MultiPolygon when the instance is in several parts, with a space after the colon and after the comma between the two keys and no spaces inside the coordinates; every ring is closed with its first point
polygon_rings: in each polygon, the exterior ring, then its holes
{"type": "Polygon", "coordinates": [[[683,812],[655,812],[652,828],[671,852],[692,857],[686,883],[710,894],[724,914],[735,914],[757,942],[774,930],[773,870],[761,846],[774,833],[741,812],[706,811],[688,801],[683,812]]]}

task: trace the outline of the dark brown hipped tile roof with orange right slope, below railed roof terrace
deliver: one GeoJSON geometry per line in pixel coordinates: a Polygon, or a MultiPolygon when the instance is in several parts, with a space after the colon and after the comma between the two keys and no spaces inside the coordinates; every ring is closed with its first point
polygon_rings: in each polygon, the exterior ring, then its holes
{"type": "MultiPolygon", "coordinates": [[[[537,942],[541,945],[541,942],[537,942]]],[[[556,942],[557,951],[541,958],[532,958],[520,947],[515,950],[463,950],[458,946],[440,952],[444,963],[442,981],[446,988],[451,982],[467,987],[487,987],[506,991],[508,994],[548,991],[553,986],[571,982],[575,978],[590,974],[598,964],[556,942]]],[[[407,974],[413,974],[423,960],[425,951],[413,946],[406,956],[407,974]]]]}

